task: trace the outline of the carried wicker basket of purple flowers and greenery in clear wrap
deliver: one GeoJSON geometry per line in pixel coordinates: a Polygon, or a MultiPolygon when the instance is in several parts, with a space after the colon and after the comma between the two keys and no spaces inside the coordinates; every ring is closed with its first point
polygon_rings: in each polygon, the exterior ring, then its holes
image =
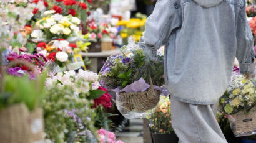
{"type": "Polygon", "coordinates": [[[101,85],[116,92],[119,111],[126,118],[138,118],[157,106],[159,86],[164,83],[163,70],[161,55],[154,61],[147,60],[143,50],[134,42],[122,47],[121,55],[107,58],[99,75],[101,85]]]}

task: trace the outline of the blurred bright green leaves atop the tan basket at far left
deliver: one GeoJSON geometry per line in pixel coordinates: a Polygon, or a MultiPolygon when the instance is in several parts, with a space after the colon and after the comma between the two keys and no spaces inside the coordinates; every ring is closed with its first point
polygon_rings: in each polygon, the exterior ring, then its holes
{"type": "Polygon", "coordinates": [[[29,110],[40,105],[44,97],[44,81],[46,73],[38,76],[37,80],[30,80],[28,76],[4,76],[5,90],[0,95],[0,108],[7,108],[12,104],[25,103],[29,110]]]}

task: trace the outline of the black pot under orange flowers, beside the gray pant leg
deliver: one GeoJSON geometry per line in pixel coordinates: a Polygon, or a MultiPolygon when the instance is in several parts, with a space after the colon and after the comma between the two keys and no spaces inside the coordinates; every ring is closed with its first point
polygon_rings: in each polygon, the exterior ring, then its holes
{"type": "Polygon", "coordinates": [[[155,134],[151,132],[152,143],[178,143],[176,134],[155,134]]]}

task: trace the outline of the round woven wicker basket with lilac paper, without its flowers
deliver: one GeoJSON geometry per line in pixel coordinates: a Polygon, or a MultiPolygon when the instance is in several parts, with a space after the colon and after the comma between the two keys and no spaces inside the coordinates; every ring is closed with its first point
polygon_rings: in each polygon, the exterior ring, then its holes
{"type": "Polygon", "coordinates": [[[154,90],[152,79],[150,78],[150,88],[138,93],[120,93],[119,103],[126,111],[147,111],[155,108],[159,103],[160,91],[154,90]]]}

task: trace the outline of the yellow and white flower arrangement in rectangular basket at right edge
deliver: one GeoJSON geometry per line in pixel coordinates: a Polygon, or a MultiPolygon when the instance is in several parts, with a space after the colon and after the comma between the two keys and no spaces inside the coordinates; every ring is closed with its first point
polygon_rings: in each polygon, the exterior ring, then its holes
{"type": "Polygon", "coordinates": [[[235,136],[254,134],[253,131],[256,128],[255,97],[255,79],[245,78],[234,71],[229,88],[219,99],[219,109],[228,116],[235,136]]]}

